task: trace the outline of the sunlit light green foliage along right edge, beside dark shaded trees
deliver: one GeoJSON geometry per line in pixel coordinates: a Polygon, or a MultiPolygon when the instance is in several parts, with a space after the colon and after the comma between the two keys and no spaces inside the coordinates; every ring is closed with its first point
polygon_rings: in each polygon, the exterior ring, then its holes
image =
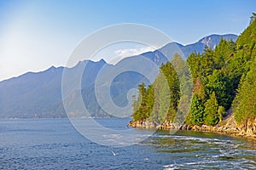
{"type": "Polygon", "coordinates": [[[238,51],[230,62],[230,77],[236,83],[236,98],[233,111],[236,122],[244,123],[256,117],[256,20],[251,17],[250,25],[236,41],[238,51]]]}

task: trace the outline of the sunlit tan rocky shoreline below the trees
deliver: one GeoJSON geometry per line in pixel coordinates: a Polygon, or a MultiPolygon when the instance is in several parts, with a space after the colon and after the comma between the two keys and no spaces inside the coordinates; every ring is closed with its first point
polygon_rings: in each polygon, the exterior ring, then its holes
{"type": "Polygon", "coordinates": [[[226,118],[224,121],[219,122],[216,126],[207,126],[207,125],[193,125],[189,126],[186,124],[178,124],[171,122],[164,122],[161,125],[155,125],[153,122],[148,121],[137,121],[130,122],[128,126],[139,127],[139,128],[154,128],[154,129],[165,129],[165,130],[191,130],[199,132],[211,132],[211,133],[224,133],[231,136],[242,137],[246,139],[253,139],[256,141],[256,119],[248,120],[244,125],[236,124],[234,116],[226,118]]]}

